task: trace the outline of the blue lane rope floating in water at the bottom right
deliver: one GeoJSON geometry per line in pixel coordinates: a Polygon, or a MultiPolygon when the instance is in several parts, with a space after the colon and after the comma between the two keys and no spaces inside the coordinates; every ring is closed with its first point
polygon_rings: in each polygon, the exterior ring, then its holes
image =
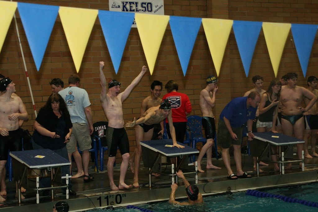
{"type": "Polygon", "coordinates": [[[268,194],[266,192],[260,192],[260,191],[252,190],[252,189],[248,189],[246,191],[246,195],[256,196],[256,197],[272,197],[272,198],[281,199],[284,202],[296,202],[306,206],[318,208],[318,202],[300,200],[293,197],[282,196],[282,195],[268,194]]]}

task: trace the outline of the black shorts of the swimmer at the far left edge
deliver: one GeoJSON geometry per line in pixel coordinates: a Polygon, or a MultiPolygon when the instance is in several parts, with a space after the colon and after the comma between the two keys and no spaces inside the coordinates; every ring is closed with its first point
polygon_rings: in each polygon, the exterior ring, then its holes
{"type": "Polygon", "coordinates": [[[22,141],[19,129],[9,131],[8,136],[0,135],[0,161],[8,160],[8,151],[21,151],[22,141]]]}

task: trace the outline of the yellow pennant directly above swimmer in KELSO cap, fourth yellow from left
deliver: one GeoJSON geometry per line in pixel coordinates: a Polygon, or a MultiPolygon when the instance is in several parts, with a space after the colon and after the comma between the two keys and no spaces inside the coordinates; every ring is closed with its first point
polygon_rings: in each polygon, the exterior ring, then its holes
{"type": "Polygon", "coordinates": [[[215,71],[217,75],[219,75],[233,20],[202,18],[202,24],[209,44],[215,71]]]}

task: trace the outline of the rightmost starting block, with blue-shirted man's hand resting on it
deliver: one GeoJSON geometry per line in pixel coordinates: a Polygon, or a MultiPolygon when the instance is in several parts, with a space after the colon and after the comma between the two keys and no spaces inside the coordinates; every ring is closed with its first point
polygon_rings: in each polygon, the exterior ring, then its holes
{"type": "Polygon", "coordinates": [[[251,155],[257,157],[257,176],[259,176],[259,161],[267,154],[267,158],[270,159],[271,149],[270,145],[278,146],[279,161],[270,161],[279,163],[280,174],[284,174],[284,163],[290,162],[302,162],[302,170],[304,171],[304,151],[302,152],[302,160],[285,161],[284,154],[288,149],[295,144],[305,143],[301,139],[297,139],[288,135],[273,132],[253,133],[254,139],[251,141],[251,155]],[[283,151],[286,146],[287,149],[283,151]]]}

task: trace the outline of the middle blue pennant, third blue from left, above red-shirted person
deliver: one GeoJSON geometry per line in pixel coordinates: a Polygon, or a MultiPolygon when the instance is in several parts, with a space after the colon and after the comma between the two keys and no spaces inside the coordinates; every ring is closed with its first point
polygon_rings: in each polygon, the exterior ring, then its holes
{"type": "Polygon", "coordinates": [[[183,75],[187,72],[191,53],[197,38],[202,18],[170,16],[169,24],[172,37],[182,67],[183,75]]]}

